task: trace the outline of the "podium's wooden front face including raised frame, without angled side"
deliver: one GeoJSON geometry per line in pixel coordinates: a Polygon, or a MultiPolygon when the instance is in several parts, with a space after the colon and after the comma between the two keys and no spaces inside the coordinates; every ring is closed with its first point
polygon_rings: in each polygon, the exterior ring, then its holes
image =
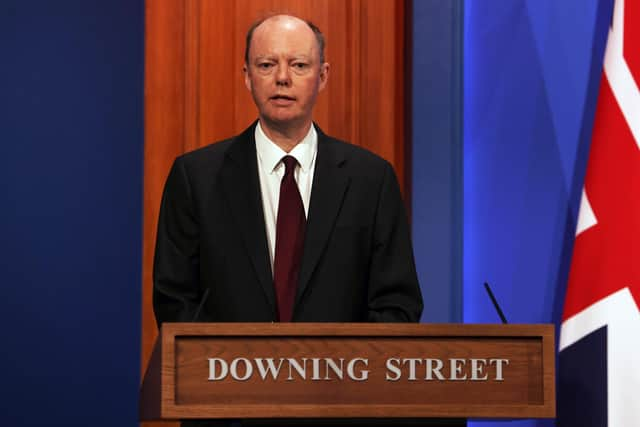
{"type": "MultiPolygon", "coordinates": [[[[162,413],[199,417],[554,417],[553,325],[167,324],[162,413]],[[367,381],[211,382],[208,358],[366,357],[367,381]],[[386,381],[397,358],[507,358],[503,381],[386,381]]],[[[360,366],[362,368],[362,366],[360,366]]],[[[244,372],[241,368],[241,371],[244,372]]],[[[446,366],[443,372],[446,376],[446,366]]],[[[485,372],[491,377],[491,368],[485,372]]],[[[469,375],[469,365],[463,373],[469,375]]],[[[294,375],[295,376],[295,375],[294,375]]]]}

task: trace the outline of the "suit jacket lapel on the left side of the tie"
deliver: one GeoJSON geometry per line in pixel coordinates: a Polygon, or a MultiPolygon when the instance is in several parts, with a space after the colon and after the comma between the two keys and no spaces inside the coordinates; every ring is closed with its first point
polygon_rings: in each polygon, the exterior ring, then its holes
{"type": "Polygon", "coordinates": [[[238,135],[229,146],[222,168],[222,187],[240,238],[275,313],[275,291],[258,181],[254,129],[255,123],[238,135]]]}

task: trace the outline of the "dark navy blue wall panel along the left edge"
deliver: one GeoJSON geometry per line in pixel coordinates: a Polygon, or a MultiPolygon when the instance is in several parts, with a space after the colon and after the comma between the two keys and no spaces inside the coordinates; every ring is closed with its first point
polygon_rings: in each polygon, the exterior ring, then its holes
{"type": "Polygon", "coordinates": [[[0,3],[2,425],[136,425],[143,25],[0,3]]]}

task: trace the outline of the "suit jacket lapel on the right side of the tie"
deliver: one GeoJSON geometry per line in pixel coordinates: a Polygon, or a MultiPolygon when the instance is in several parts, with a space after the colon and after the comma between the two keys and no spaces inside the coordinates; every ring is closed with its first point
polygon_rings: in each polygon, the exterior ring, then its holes
{"type": "Polygon", "coordinates": [[[326,248],[349,185],[349,176],[342,167],[345,162],[344,153],[339,150],[338,144],[317,126],[316,129],[318,130],[318,154],[294,313],[326,248]]]}

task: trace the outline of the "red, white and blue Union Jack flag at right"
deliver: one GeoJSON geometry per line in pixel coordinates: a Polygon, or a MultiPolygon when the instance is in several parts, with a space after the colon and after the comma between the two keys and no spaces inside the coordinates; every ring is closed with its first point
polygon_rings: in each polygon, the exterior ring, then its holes
{"type": "Polygon", "coordinates": [[[640,427],[640,1],[617,0],[560,330],[558,426],[640,427]]]}

